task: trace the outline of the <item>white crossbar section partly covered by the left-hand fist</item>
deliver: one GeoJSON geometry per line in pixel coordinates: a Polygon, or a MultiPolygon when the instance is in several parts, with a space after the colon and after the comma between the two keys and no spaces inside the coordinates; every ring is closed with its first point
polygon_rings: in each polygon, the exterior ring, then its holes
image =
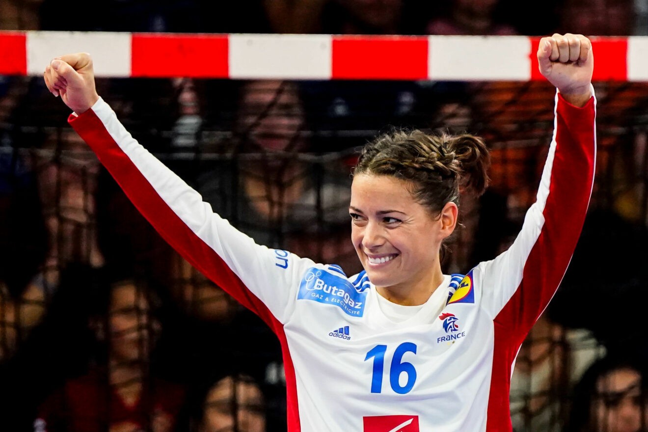
{"type": "Polygon", "coordinates": [[[38,76],[52,58],[89,52],[96,76],[130,76],[131,35],[118,32],[27,32],[27,74],[38,76]]]}

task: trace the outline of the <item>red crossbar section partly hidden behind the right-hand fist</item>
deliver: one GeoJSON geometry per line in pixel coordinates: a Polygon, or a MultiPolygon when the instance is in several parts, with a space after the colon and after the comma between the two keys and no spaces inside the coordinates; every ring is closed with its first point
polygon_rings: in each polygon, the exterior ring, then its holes
{"type": "MultiPolygon", "coordinates": [[[[627,81],[628,40],[625,38],[590,38],[594,51],[592,81],[627,81]]],[[[531,38],[531,80],[546,80],[538,69],[540,38],[531,38]]]]}

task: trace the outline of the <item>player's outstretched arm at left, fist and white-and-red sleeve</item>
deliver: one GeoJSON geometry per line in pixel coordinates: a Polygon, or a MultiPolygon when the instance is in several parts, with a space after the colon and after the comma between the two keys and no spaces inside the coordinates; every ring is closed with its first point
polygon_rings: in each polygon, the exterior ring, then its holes
{"type": "Polygon", "coordinates": [[[60,74],[48,67],[45,82],[75,111],[69,123],[126,196],[192,266],[266,323],[284,323],[298,282],[312,262],[257,245],[215,214],[198,192],[133,139],[98,97],[92,72],[82,75],[87,54],[73,56],[77,57],[62,57],[65,63],[58,65],[60,74]],[[78,65],[84,66],[76,69],[78,65]]]}

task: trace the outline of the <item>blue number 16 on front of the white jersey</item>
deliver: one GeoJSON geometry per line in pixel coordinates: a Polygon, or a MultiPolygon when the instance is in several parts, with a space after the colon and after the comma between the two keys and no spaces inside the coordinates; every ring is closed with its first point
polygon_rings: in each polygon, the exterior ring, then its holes
{"type": "MultiPolygon", "coordinates": [[[[382,374],[384,373],[385,353],[387,352],[387,345],[376,345],[367,352],[365,361],[373,358],[373,371],[371,373],[371,392],[382,392],[382,374]]],[[[403,342],[394,351],[394,356],[391,359],[391,367],[389,367],[389,384],[391,389],[398,394],[406,394],[411,391],[416,382],[416,369],[408,361],[402,361],[406,352],[413,352],[416,354],[416,345],[411,342],[403,342]],[[405,385],[400,385],[400,374],[407,375],[407,382],[405,385]]]]}

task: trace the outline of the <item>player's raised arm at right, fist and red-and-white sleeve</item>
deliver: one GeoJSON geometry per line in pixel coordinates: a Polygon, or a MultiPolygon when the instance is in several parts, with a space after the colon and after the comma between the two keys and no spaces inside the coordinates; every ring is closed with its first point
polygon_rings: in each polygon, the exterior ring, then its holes
{"type": "MultiPolygon", "coordinates": [[[[517,347],[557,290],[581,233],[594,184],[596,100],[590,40],[566,34],[542,38],[540,71],[557,88],[553,140],[536,202],[508,251],[481,263],[474,277],[483,302],[517,347]]],[[[511,360],[511,359],[509,359],[511,360]]]]}

